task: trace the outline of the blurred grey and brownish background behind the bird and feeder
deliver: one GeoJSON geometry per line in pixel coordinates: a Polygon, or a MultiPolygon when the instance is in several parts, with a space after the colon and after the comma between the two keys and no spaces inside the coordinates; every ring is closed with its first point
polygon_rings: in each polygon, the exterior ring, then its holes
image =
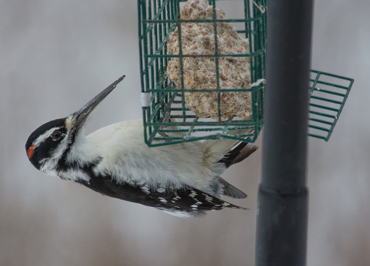
{"type": "MultiPolygon", "coordinates": [[[[231,202],[250,210],[204,219],[102,196],[28,162],[34,129],[122,74],[87,133],[141,117],[136,1],[0,3],[0,265],[253,265],[260,150],[223,175],[249,196],[231,202]]],[[[309,266],[370,265],[369,10],[368,0],[315,1],[312,68],[355,82],[330,141],[309,139],[309,266]]]]}

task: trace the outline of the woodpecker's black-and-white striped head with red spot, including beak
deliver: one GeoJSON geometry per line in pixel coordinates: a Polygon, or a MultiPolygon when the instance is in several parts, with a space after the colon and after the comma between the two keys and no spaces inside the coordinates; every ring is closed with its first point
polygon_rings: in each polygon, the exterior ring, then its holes
{"type": "Polygon", "coordinates": [[[92,110],[124,79],[120,77],[100,92],[79,111],[68,117],[55,119],[37,128],[26,142],[26,152],[31,164],[38,170],[57,175],[57,166],[65,161],[92,110]]]}

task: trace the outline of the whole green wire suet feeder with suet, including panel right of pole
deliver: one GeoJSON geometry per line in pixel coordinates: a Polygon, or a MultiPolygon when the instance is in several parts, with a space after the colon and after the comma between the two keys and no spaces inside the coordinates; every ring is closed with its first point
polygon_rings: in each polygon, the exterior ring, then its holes
{"type": "MultiPolygon", "coordinates": [[[[233,14],[222,13],[229,0],[184,2],[138,0],[145,142],[149,146],[210,138],[254,142],[263,127],[267,0],[232,1],[233,14]],[[233,43],[244,48],[230,48],[233,43]],[[242,115],[225,111],[225,105],[234,108],[245,102],[249,109],[242,115]],[[203,105],[210,113],[203,112],[203,105]],[[243,131],[228,134],[231,130],[243,131]]],[[[328,140],[353,80],[311,73],[309,135],[328,140]]]]}

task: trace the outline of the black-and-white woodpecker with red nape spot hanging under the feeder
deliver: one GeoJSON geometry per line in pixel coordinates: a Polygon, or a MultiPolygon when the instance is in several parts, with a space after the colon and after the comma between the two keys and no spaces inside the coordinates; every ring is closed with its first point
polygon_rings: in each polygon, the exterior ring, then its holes
{"type": "Polygon", "coordinates": [[[120,77],[79,111],[37,128],[28,159],[40,171],[80,183],[103,195],[141,203],[180,217],[224,207],[244,209],[221,195],[247,195],[220,177],[258,147],[234,139],[149,148],[142,119],[118,122],[84,135],[88,115],[123,80],[120,77]]]}

